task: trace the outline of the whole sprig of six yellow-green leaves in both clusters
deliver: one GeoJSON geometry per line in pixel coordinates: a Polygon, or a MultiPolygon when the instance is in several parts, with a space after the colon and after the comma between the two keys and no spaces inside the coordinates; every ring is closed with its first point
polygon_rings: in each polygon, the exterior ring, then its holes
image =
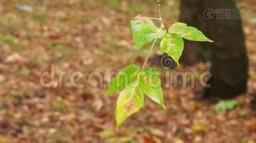
{"type": "MultiPolygon", "coordinates": [[[[160,49],[179,64],[178,61],[184,49],[182,38],[190,41],[212,42],[201,31],[187,26],[185,23],[175,23],[166,31],[163,25],[161,27],[155,26],[151,19],[157,18],[139,15],[131,20],[132,35],[138,50],[146,43],[162,39],[160,49]]],[[[118,91],[121,92],[116,105],[117,126],[143,107],[143,93],[165,109],[159,74],[152,68],[144,70],[138,66],[129,65],[116,76],[107,93],[111,94],[118,91]]]]}

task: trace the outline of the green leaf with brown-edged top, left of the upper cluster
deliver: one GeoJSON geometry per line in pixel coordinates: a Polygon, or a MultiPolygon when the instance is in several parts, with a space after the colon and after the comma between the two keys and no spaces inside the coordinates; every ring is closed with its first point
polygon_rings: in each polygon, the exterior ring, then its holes
{"type": "Polygon", "coordinates": [[[138,50],[146,43],[154,39],[161,39],[166,34],[166,31],[156,27],[150,18],[141,15],[131,20],[131,27],[138,50]]]}

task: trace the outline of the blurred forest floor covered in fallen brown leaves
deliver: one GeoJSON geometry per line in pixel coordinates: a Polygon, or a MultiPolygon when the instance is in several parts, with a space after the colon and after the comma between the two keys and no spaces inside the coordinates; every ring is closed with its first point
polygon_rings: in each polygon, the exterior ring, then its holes
{"type": "MultiPolygon", "coordinates": [[[[256,96],[255,1],[240,0],[238,6],[247,10],[250,60],[248,93],[234,99],[238,105],[218,112],[214,103],[193,100],[192,87],[163,87],[166,110],[147,99],[116,128],[117,94],[105,94],[106,75],[143,64],[149,48],[136,50],[130,19],[157,17],[154,0],[0,0],[0,143],[256,143],[256,112],[250,110],[256,96]],[[50,87],[40,84],[44,71],[53,71],[50,87]],[[85,87],[72,87],[73,72],[83,73],[78,82],[85,87]],[[93,74],[102,81],[93,76],[87,82],[93,74]]],[[[176,22],[179,2],[163,2],[162,13],[165,23],[176,22]]],[[[158,49],[151,56],[162,54],[158,49]]],[[[199,75],[210,64],[152,66],[166,79],[166,72],[199,75]]]]}

